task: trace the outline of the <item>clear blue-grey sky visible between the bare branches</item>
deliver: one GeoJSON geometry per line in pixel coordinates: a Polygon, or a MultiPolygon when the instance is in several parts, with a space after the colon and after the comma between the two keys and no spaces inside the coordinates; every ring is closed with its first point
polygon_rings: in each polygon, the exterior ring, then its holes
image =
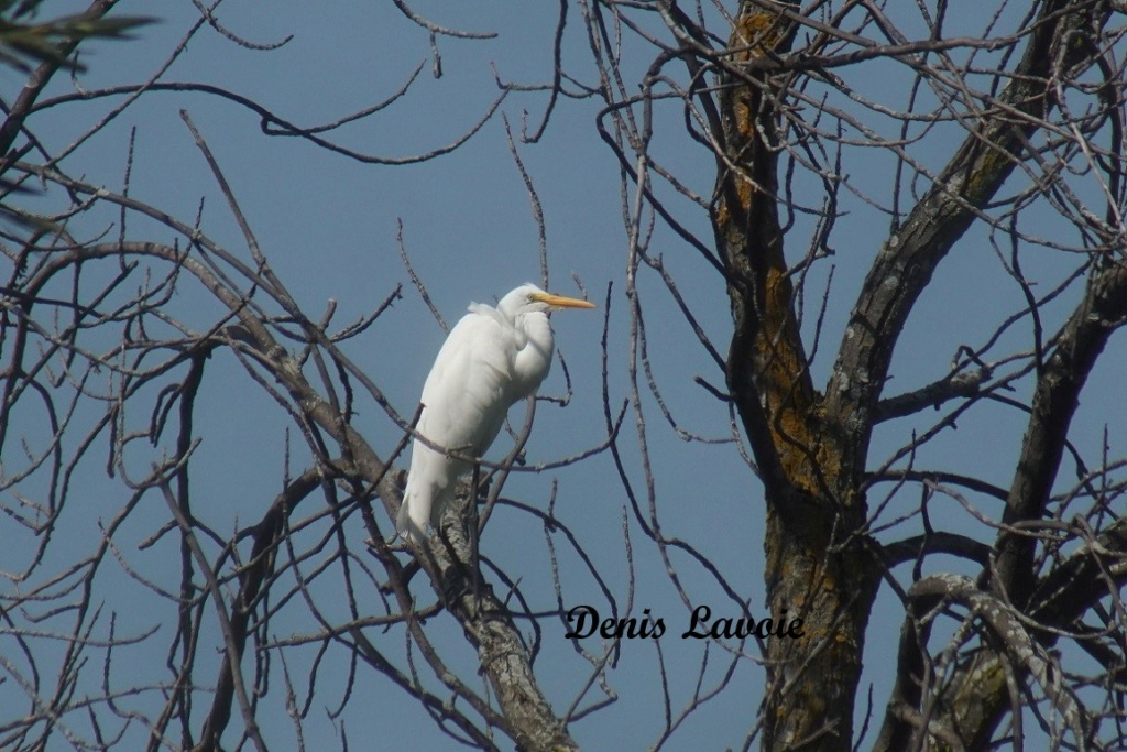
{"type": "MultiPolygon", "coordinates": [[[[47,11],[54,15],[55,8],[66,6],[47,3],[47,11]]],[[[187,52],[162,80],[213,83],[247,96],[298,125],[309,126],[334,121],[389,97],[423,63],[423,72],[401,100],[383,113],[327,134],[356,151],[403,158],[449,144],[472,126],[498,96],[495,72],[507,81],[543,82],[550,78],[554,9],[548,12],[499,2],[458,3],[454,8],[444,3],[412,6],[420,15],[447,27],[497,33],[496,38],[488,41],[438,37],[443,74],[435,78],[427,35],[390,3],[385,6],[229,0],[220,6],[216,15],[234,34],[258,44],[276,43],[291,34],[293,38],[277,50],[257,51],[205,29],[192,39],[187,52]]],[[[157,70],[196,17],[193,5],[184,1],[159,6],[123,2],[119,12],[156,14],[161,23],[143,29],[135,41],[89,45],[90,53],[83,57],[89,72],[79,79],[86,89],[143,80],[157,70]]],[[[975,14],[964,18],[968,29],[980,30],[982,19],[976,19],[975,14]]],[[[565,61],[569,69],[587,77],[586,83],[592,83],[593,69],[580,25],[582,19],[573,9],[565,61]]],[[[628,41],[627,52],[630,72],[645,71],[651,51],[628,41]]],[[[885,97],[890,104],[902,105],[899,77],[900,73],[887,65],[870,63],[864,74],[858,77],[857,86],[867,96],[885,97]]],[[[11,72],[6,72],[0,81],[9,100],[17,83],[18,78],[11,72]]],[[[70,88],[71,83],[60,78],[48,96],[70,88]]],[[[119,101],[103,99],[60,106],[41,114],[33,127],[48,148],[59,150],[96,122],[99,113],[119,101]]],[[[508,118],[518,136],[525,122],[530,127],[541,122],[544,105],[545,96],[541,92],[512,94],[497,115],[461,149],[433,161],[397,166],[365,165],[296,139],[266,138],[252,113],[216,97],[151,92],[68,158],[63,167],[72,175],[83,175],[90,183],[118,189],[131,129],[135,129],[131,195],[188,221],[195,216],[201,197],[205,197],[205,231],[247,258],[238,228],[178,115],[180,109],[188,110],[227,174],[274,271],[311,318],[319,318],[331,299],[338,306],[335,321],[343,326],[371,311],[397,285],[402,285],[402,299],[363,336],[347,342],[344,350],[379,384],[396,410],[409,416],[442,344],[443,331],[403,268],[397,241],[400,223],[411,264],[450,324],[471,301],[492,302],[522,282],[539,282],[536,223],[524,180],[509,151],[502,115],[508,118]]],[[[630,395],[627,379],[630,321],[623,295],[627,235],[619,169],[596,133],[597,109],[598,104],[594,100],[562,99],[541,142],[526,144],[516,139],[516,149],[543,206],[551,287],[564,294],[576,294],[573,282],[576,275],[591,298],[600,303],[596,312],[567,311],[553,317],[557,344],[567,359],[574,395],[566,409],[547,404],[538,408],[536,427],[527,446],[532,463],[573,455],[597,445],[605,437],[598,346],[604,313],[609,316],[609,401],[616,410],[630,395]],[[613,285],[613,293],[606,311],[603,303],[609,284],[613,285]]],[[[659,108],[657,122],[656,153],[676,167],[692,187],[708,195],[715,179],[715,166],[707,151],[684,135],[678,107],[669,104],[659,108]]],[[[914,153],[935,167],[961,138],[961,131],[956,127],[939,130],[938,135],[923,141],[914,153]]],[[[880,194],[880,186],[888,183],[888,165],[878,151],[861,149],[846,156],[843,172],[858,189],[880,194]]],[[[813,182],[809,186],[816,188],[813,182]]],[[[819,384],[828,374],[843,334],[845,313],[864,271],[888,235],[886,216],[844,193],[843,202],[842,209],[848,214],[840,220],[833,237],[836,255],[832,262],[815,268],[807,293],[813,310],[820,300],[826,273],[833,263],[834,286],[828,298],[819,359],[814,365],[815,381],[819,384]]],[[[819,205],[820,195],[811,194],[806,203],[819,205]]],[[[690,212],[683,200],[674,200],[674,204],[694,231],[703,238],[709,237],[701,212],[690,212]]],[[[115,221],[114,214],[82,218],[80,227],[94,236],[115,221]]],[[[167,229],[152,223],[131,220],[130,227],[136,236],[149,233],[166,242],[174,240],[167,229]]],[[[801,218],[788,238],[792,260],[797,259],[795,254],[805,250],[811,227],[808,218],[801,218]]],[[[1057,232],[1048,223],[1030,231],[1047,236],[1057,232]]],[[[720,352],[725,352],[730,325],[722,281],[695,251],[665,229],[656,231],[650,253],[663,257],[704,330],[720,352]]],[[[1027,274],[1044,278],[1044,289],[1051,286],[1062,269],[1075,264],[1074,257],[1033,246],[1026,259],[1027,274]]],[[[646,315],[655,378],[672,415],[693,433],[716,439],[729,436],[726,408],[693,383],[693,377],[701,375],[720,386],[722,374],[673,309],[669,294],[655,274],[641,272],[638,291],[646,315]]],[[[1066,295],[1049,310],[1047,330],[1056,328],[1075,300],[1075,294],[1066,295]]],[[[969,232],[940,267],[932,289],[921,299],[909,320],[899,340],[893,381],[886,395],[908,391],[942,377],[959,344],[984,344],[995,322],[1022,304],[1020,290],[1003,274],[985,233],[969,232]]],[[[174,306],[178,315],[201,328],[218,316],[214,303],[187,285],[174,306]]],[[[808,331],[813,319],[811,313],[807,319],[808,331]]],[[[1000,352],[1021,348],[1021,343],[1028,343],[1028,322],[1020,324],[1012,337],[1003,343],[1008,348],[1000,346],[1000,352]]],[[[1121,440],[1125,432],[1121,412],[1109,409],[1109,405],[1115,404],[1111,396],[1118,374],[1127,368],[1121,342],[1116,339],[1112,345],[1084,392],[1074,427],[1076,444],[1088,451],[1099,446],[1104,425],[1112,444],[1121,440]]],[[[281,489],[289,418],[234,359],[213,360],[203,391],[206,408],[197,416],[196,431],[202,441],[193,459],[196,469],[193,493],[197,515],[223,533],[256,521],[281,489]]],[[[1028,380],[1018,388],[1019,396],[1026,396],[1028,380]]],[[[561,395],[564,389],[562,371],[557,364],[541,392],[561,395]]],[[[399,430],[370,399],[361,399],[357,412],[357,424],[373,448],[385,457],[399,441],[399,430]]],[[[139,422],[147,418],[142,413],[135,416],[139,422]]],[[[644,378],[641,414],[646,421],[645,437],[663,530],[684,539],[712,559],[742,596],[749,600],[753,612],[763,614],[761,524],[764,508],[762,487],[754,474],[733,443],[685,442],[677,437],[657,409],[644,378]]],[[[929,410],[919,421],[897,421],[882,426],[873,442],[870,465],[882,462],[911,439],[913,430],[925,430],[940,415],[929,410]]],[[[514,410],[514,419],[520,424],[520,408],[514,410]]],[[[631,410],[627,414],[620,446],[632,487],[645,494],[635,424],[636,413],[631,410]]],[[[948,431],[922,450],[916,466],[976,475],[1004,486],[1012,475],[1023,425],[1023,416],[1014,410],[971,412],[959,421],[957,431],[948,431]]],[[[35,416],[27,415],[23,427],[34,435],[37,431],[35,416]]],[[[308,451],[301,446],[296,432],[291,431],[289,440],[293,446],[290,472],[296,475],[304,469],[308,451]]],[[[494,449],[497,457],[507,450],[504,444],[504,437],[498,440],[494,449]]],[[[150,450],[147,454],[139,452],[134,460],[137,468],[147,468],[148,462],[159,455],[159,450],[150,450]]],[[[104,463],[104,457],[103,452],[80,468],[85,484],[81,504],[74,505],[79,508],[72,510],[73,527],[66,528],[76,545],[96,536],[98,521],[110,519],[125,498],[121,485],[106,479],[104,465],[99,465],[104,463]]],[[[1066,476],[1067,470],[1062,472],[1063,478],[1066,476]]],[[[675,716],[691,697],[704,647],[680,639],[680,632],[687,625],[687,610],[672,587],[654,546],[645,540],[632,515],[624,515],[628,499],[610,455],[598,454],[575,467],[540,475],[517,474],[506,486],[506,495],[544,506],[553,484],[558,517],[591,552],[620,607],[625,607],[632,583],[632,613],[640,616],[648,608],[669,625],[659,647],[660,658],[673,678],[671,704],[675,716]],[[632,545],[632,566],[628,566],[623,543],[624,516],[632,545]]],[[[878,486],[870,501],[881,493],[880,489],[878,486]]],[[[897,505],[902,510],[912,508],[917,492],[909,492],[908,496],[898,499],[894,508],[897,505]]],[[[144,550],[136,548],[136,543],[151,536],[167,515],[160,499],[147,503],[151,511],[132,517],[117,545],[130,567],[143,570],[154,582],[175,587],[178,570],[171,541],[144,550]]],[[[321,502],[314,497],[307,503],[313,506],[321,502]]],[[[988,499],[976,497],[974,503],[990,516],[1000,514],[988,499]]],[[[990,540],[990,536],[950,499],[937,498],[932,512],[937,524],[974,531],[979,538],[990,540]]],[[[358,520],[355,522],[355,530],[349,534],[360,541],[364,532],[358,520]]],[[[381,517],[381,525],[391,530],[385,519],[381,517]]],[[[914,527],[908,524],[886,539],[914,532],[914,527]]],[[[560,541],[554,539],[554,542],[559,545],[560,541]]],[[[535,520],[502,508],[486,531],[481,546],[511,576],[521,580],[526,592],[535,594],[534,608],[554,607],[549,548],[535,520]]],[[[24,550],[17,547],[5,554],[5,568],[14,568],[14,561],[24,550]]],[[[561,557],[565,604],[598,602],[597,587],[575,556],[559,546],[557,554],[561,557]]],[[[725,607],[730,604],[699,566],[676,552],[672,560],[693,603],[708,604],[717,616],[724,616],[725,607]]],[[[943,566],[966,568],[948,559],[939,561],[943,566]]],[[[121,572],[107,569],[104,574],[106,610],[117,611],[118,629],[142,631],[172,613],[167,611],[162,616],[139,609],[132,596],[126,598],[124,589],[114,586],[115,577],[122,577],[123,583],[128,581],[121,572]]],[[[420,587],[423,598],[428,598],[429,591],[421,587],[421,583],[416,583],[416,587],[420,587]]],[[[313,594],[327,611],[336,612],[341,620],[347,617],[341,604],[334,602],[331,582],[319,583],[313,594]]],[[[369,605],[372,613],[378,613],[374,593],[372,596],[369,605]]],[[[165,605],[167,608],[167,603],[165,605]]],[[[890,667],[902,616],[903,609],[886,589],[870,627],[866,663],[871,670],[860,692],[863,697],[869,684],[873,684],[876,723],[882,714],[891,680],[890,667]]],[[[270,634],[273,638],[284,639],[316,628],[294,603],[274,619],[270,634]]],[[[434,631],[434,639],[449,649],[446,657],[451,664],[472,680],[474,656],[452,620],[437,618],[428,629],[434,631]]],[[[380,636],[379,639],[390,638],[380,636]]],[[[205,631],[204,644],[206,651],[214,651],[214,631],[205,631]]],[[[394,655],[394,644],[384,644],[394,655]]],[[[562,711],[585,684],[589,664],[564,638],[559,622],[549,625],[543,644],[538,675],[557,710],[562,711]]],[[[584,642],[583,647],[595,654],[601,651],[596,638],[584,642]]],[[[166,644],[159,636],[150,640],[149,646],[134,648],[130,661],[131,665],[135,662],[139,681],[168,679],[163,672],[165,649],[166,644]]],[[[706,687],[722,674],[728,656],[716,646],[710,648],[706,687]]],[[[286,654],[287,669],[299,685],[313,658],[311,648],[286,654]]],[[[640,750],[656,743],[664,713],[657,664],[654,644],[647,640],[623,644],[621,661],[607,676],[618,701],[571,728],[585,749],[640,750]]],[[[275,662],[273,670],[274,695],[269,699],[277,709],[281,708],[277,698],[282,691],[282,669],[275,662]]],[[[335,749],[339,745],[341,729],[348,735],[350,749],[407,745],[447,749],[451,745],[449,737],[436,731],[412,700],[363,667],[343,719],[330,720],[327,709],[339,704],[346,671],[343,655],[330,654],[321,667],[319,693],[312,701],[307,724],[305,743],[310,749],[335,749]]],[[[436,685],[433,681],[429,684],[436,685]]],[[[763,671],[749,660],[742,661],[733,684],[691,715],[664,749],[699,749],[701,738],[709,740],[709,749],[738,749],[752,726],[762,685],[763,671]]],[[[0,697],[14,691],[10,684],[7,689],[0,688],[0,697]]],[[[593,695],[597,695],[597,690],[593,695]]],[[[588,695],[587,701],[591,698],[588,695]]],[[[292,727],[278,710],[269,713],[277,715],[266,716],[276,718],[275,724],[264,729],[267,741],[276,749],[291,747],[292,727]]],[[[863,713],[863,702],[859,702],[859,713],[863,713]]],[[[230,735],[225,737],[230,738],[230,735]]],[[[511,745],[506,741],[502,747],[511,745]]]]}

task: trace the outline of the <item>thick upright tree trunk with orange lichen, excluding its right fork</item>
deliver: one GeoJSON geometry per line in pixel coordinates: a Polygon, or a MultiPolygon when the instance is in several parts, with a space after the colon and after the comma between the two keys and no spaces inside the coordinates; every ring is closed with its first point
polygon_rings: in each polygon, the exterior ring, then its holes
{"type": "Polygon", "coordinates": [[[783,254],[779,85],[762,62],[786,51],[792,33],[786,16],[742,6],[731,38],[740,52],[720,101],[726,160],[713,224],[735,324],[728,386],[767,502],[767,603],[775,620],[802,620],[797,638],[769,643],[763,749],[849,750],[876,569],[855,534],[860,472],[843,466],[838,432],[823,417],[783,254]]]}

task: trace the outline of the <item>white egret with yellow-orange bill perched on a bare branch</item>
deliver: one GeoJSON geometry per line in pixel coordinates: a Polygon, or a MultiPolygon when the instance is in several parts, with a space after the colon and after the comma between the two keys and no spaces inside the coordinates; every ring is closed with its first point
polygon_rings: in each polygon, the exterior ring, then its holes
{"type": "MultiPolygon", "coordinates": [[[[481,457],[497,437],[508,408],[534,395],[552,364],[548,311],[595,308],[594,303],[523,284],[497,308],[471,303],[438,351],[423,387],[416,430],[433,445],[464,458],[481,457]]],[[[438,525],[454,498],[459,476],[473,465],[415,440],[403,504],[396,529],[420,540],[438,525]]]]}

